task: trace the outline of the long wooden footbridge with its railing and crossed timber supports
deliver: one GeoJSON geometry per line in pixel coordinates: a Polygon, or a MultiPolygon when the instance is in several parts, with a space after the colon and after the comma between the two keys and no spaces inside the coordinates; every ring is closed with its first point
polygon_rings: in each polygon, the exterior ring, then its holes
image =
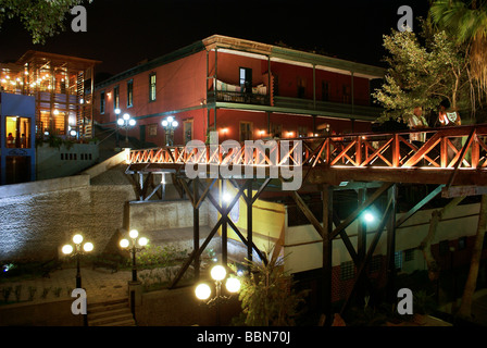
{"type": "MultiPolygon", "coordinates": [[[[279,170],[300,174],[301,186],[288,192],[297,206],[323,238],[323,311],[332,318],[332,241],[340,237],[355,263],[359,279],[367,283],[364,270],[370,262],[383,231],[387,231],[387,277],[392,286],[395,276],[396,228],[422,209],[440,192],[444,197],[459,197],[487,194],[487,124],[465,125],[421,130],[347,134],[297,139],[276,139],[247,144],[204,145],[201,142],[186,147],[164,147],[132,150],[127,156],[127,174],[138,175],[135,179],[138,197],[148,200],[163,185],[153,183],[155,173],[171,172],[173,182],[180,185],[193,206],[195,245],[193,251],[173,283],[177,284],[183,274],[193,263],[199,276],[199,258],[211,238],[222,227],[222,258],[226,256],[226,228],[229,226],[248,248],[248,259],[255,251],[262,254],[252,241],[252,203],[266,189],[272,179],[286,183],[289,176],[279,170]],[[415,133],[425,133],[426,141],[410,141],[415,133]],[[189,166],[188,166],[189,165],[189,166]],[[188,177],[188,170],[202,169],[198,176],[188,177]],[[224,167],[222,171],[213,171],[224,167]],[[227,170],[232,169],[232,171],[227,170]],[[276,171],[277,170],[277,171],[276,171]],[[215,174],[216,173],[216,174],[215,174]],[[280,173],[275,176],[275,173],[280,173]],[[211,189],[217,181],[230,183],[237,195],[229,203],[220,203],[211,189]],[[191,185],[192,184],[192,185],[191,185]],[[426,194],[400,220],[396,221],[397,185],[430,184],[435,188],[426,194]],[[257,186],[255,186],[257,185],[257,186]],[[192,188],[191,188],[192,186],[192,188]],[[333,208],[334,191],[353,189],[358,192],[358,208],[345,220],[338,219],[333,208]],[[372,191],[372,190],[373,191],[372,191]],[[301,192],[321,192],[323,219],[319,221],[307,206],[301,192]],[[367,190],[371,190],[367,194],[367,190]],[[366,249],[366,233],[359,231],[357,249],[350,243],[346,228],[360,214],[387,195],[379,227],[366,249]],[[228,213],[242,197],[247,202],[247,235],[238,231],[228,213]],[[221,217],[207,240],[200,246],[199,208],[208,199],[220,212],[221,217]],[[365,278],[365,279],[364,279],[365,278]]],[[[361,227],[359,226],[359,229],[361,227]]],[[[350,299],[351,294],[348,299],[350,299]]],[[[346,301],[346,304],[349,300],[346,301]]]]}

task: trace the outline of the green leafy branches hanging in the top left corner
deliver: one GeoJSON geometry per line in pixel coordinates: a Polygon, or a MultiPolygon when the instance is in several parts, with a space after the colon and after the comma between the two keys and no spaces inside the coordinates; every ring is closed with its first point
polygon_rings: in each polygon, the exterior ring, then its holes
{"type": "MultiPolygon", "coordinates": [[[[92,0],[88,0],[92,2],[92,0]]],[[[66,13],[84,0],[0,0],[0,28],[5,20],[17,17],[30,33],[34,44],[64,30],[66,13]]]]}

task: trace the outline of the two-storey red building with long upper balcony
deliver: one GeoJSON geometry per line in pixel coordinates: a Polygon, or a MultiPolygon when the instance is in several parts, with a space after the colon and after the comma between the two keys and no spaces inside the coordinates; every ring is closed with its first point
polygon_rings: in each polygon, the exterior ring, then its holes
{"type": "Polygon", "coordinates": [[[220,141],[310,137],[327,125],[367,132],[380,113],[371,80],[383,77],[380,67],[214,35],[98,84],[93,117],[116,127],[128,113],[137,121],[128,135],[155,146],[167,142],[167,116],[174,145],[211,129],[220,141]]]}

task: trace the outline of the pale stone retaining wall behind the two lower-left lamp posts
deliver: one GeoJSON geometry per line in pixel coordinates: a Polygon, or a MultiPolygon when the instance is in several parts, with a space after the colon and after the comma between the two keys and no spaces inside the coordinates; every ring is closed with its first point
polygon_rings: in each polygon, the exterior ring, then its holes
{"type": "Polygon", "coordinates": [[[135,199],[129,185],[92,186],[89,179],[67,178],[13,185],[0,192],[0,260],[48,260],[76,233],[102,252],[118,228],[124,227],[125,202],[135,199]],[[82,184],[80,184],[82,183],[82,184]],[[42,190],[42,187],[49,189],[42,190]],[[7,197],[5,197],[7,196],[7,197]]]}

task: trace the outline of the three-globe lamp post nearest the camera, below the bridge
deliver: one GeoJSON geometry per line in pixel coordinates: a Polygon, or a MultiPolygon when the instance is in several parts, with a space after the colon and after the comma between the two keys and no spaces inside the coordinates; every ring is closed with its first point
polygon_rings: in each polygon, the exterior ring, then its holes
{"type": "Polygon", "coordinates": [[[224,300],[229,299],[229,297],[232,296],[232,295],[230,296],[222,295],[222,284],[226,278],[225,282],[226,290],[229,294],[236,294],[240,290],[240,281],[236,277],[227,277],[226,269],[221,264],[213,266],[210,271],[210,275],[214,281],[216,295],[210,299],[212,289],[210,285],[207,283],[200,283],[199,285],[197,285],[197,287],[195,288],[195,295],[198,299],[207,301],[205,302],[207,304],[213,304],[213,303],[216,304],[216,320],[217,325],[220,325],[221,303],[224,300]]]}

